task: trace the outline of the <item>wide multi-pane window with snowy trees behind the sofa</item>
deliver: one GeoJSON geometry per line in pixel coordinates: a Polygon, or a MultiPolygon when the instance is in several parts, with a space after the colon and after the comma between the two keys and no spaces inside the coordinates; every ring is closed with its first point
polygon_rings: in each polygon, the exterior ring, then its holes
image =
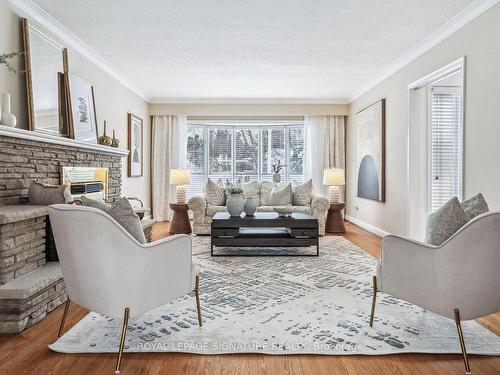
{"type": "Polygon", "coordinates": [[[188,197],[201,194],[207,178],[215,181],[271,181],[272,165],[287,165],[282,181],[302,181],[304,124],[206,124],[187,129],[188,197]]]}

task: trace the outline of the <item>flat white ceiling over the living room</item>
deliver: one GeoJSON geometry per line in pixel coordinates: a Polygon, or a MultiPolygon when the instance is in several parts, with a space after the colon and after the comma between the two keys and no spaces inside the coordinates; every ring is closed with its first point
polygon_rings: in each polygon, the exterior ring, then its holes
{"type": "Polygon", "coordinates": [[[33,2],[153,101],[345,101],[474,3],[473,0],[33,2]]]}

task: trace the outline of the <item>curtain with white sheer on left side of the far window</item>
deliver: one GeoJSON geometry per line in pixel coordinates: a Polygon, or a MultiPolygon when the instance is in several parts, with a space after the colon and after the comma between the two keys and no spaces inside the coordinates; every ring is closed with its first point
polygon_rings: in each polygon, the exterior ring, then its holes
{"type": "Polygon", "coordinates": [[[151,139],[151,195],[153,218],[170,218],[169,203],[175,201],[170,169],[186,167],[186,116],[153,116],[151,139]]]}

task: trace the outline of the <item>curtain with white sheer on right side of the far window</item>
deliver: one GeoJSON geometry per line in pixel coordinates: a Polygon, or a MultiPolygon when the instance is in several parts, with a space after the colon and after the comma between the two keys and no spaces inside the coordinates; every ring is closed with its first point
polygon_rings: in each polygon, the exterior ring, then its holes
{"type": "Polygon", "coordinates": [[[323,171],[345,168],[345,116],[306,116],[304,124],[304,177],[312,179],[316,192],[326,194],[323,171]]]}

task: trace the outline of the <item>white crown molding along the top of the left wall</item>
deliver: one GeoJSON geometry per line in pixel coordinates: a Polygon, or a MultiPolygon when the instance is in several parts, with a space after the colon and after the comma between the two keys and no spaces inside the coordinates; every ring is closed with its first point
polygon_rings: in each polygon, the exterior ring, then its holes
{"type": "Polygon", "coordinates": [[[127,87],[137,96],[149,102],[150,97],[136,85],[131,79],[125,76],[122,72],[116,69],[104,57],[89,47],[84,41],[78,38],[75,34],[69,31],[66,27],[61,25],[57,20],[50,16],[47,12],[41,9],[38,5],[30,0],[7,0],[12,8],[18,13],[29,20],[46,28],[55,37],[60,39],[67,47],[71,47],[81,55],[89,59],[97,67],[105,71],[123,86],[127,87]]]}

